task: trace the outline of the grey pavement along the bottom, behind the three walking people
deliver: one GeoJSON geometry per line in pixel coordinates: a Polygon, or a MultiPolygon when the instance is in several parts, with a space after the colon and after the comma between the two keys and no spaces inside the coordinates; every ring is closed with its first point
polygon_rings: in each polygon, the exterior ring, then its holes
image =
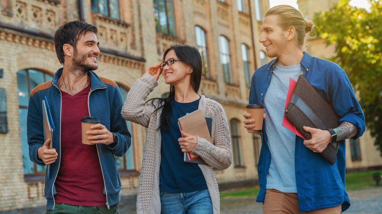
{"type": "MultiPolygon", "coordinates": [[[[382,214],[382,186],[348,191],[350,208],[344,214],[382,214]]],[[[136,195],[121,196],[119,214],[135,214],[136,195]]],[[[45,214],[45,206],[3,211],[0,214],[45,214]]],[[[262,203],[256,198],[225,198],[220,200],[220,214],[262,214],[262,203]]]]}

